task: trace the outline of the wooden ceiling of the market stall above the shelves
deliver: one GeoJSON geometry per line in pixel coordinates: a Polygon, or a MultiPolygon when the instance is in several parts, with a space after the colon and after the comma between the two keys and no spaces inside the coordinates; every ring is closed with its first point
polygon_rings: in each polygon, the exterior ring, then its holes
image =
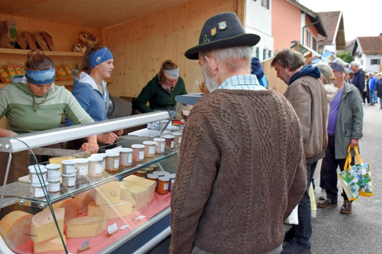
{"type": "Polygon", "coordinates": [[[0,13],[76,26],[107,28],[189,0],[0,1],[0,13]]]}

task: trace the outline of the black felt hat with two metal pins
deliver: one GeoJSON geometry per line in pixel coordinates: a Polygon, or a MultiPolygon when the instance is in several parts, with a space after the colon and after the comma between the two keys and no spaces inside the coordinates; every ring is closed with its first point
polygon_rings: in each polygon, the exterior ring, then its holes
{"type": "Polygon", "coordinates": [[[200,32],[199,45],[186,51],[185,56],[191,60],[199,59],[199,51],[234,46],[254,46],[260,36],[245,33],[239,18],[234,12],[224,12],[205,21],[200,32]]]}

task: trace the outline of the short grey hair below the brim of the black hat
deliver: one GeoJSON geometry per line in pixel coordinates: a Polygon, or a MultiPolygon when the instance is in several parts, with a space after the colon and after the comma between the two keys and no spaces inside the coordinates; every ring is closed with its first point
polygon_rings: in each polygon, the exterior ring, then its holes
{"type": "Polygon", "coordinates": [[[227,47],[201,52],[203,61],[205,56],[211,55],[214,55],[218,61],[225,63],[227,68],[233,72],[243,67],[241,61],[232,61],[234,59],[245,59],[247,60],[246,65],[251,67],[252,52],[249,46],[227,47]]]}

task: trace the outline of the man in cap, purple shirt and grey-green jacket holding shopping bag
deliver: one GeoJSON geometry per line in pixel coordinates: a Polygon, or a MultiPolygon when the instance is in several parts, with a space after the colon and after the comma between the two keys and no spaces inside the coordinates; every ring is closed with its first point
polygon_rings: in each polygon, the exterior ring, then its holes
{"type": "MultiPolygon", "coordinates": [[[[358,88],[344,81],[344,67],[337,63],[329,63],[333,70],[335,85],[339,90],[330,102],[328,118],[329,144],[326,148],[326,157],[322,160],[321,177],[325,182],[326,199],[318,202],[317,206],[327,208],[337,205],[337,167],[344,170],[349,145],[358,146],[358,140],[362,137],[363,111],[361,94],[358,88]]],[[[351,149],[352,156],[355,155],[351,149]]],[[[354,163],[354,158],[352,159],[354,163]]],[[[349,214],[352,211],[352,203],[342,192],[344,203],[340,213],[349,214]]]]}

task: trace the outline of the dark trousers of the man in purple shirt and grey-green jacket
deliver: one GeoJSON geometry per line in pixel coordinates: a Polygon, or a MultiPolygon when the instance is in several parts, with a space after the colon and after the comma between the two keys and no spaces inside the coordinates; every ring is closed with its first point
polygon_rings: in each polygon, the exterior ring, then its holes
{"type": "MultiPolygon", "coordinates": [[[[325,151],[325,158],[322,159],[321,165],[321,178],[325,183],[326,197],[330,198],[332,202],[337,202],[338,188],[337,188],[337,168],[343,171],[345,167],[346,159],[335,158],[334,136],[328,136],[328,146],[325,151]]],[[[352,157],[352,163],[354,165],[354,157],[352,157]]],[[[344,200],[348,200],[348,197],[344,192],[341,194],[344,200]]]]}

